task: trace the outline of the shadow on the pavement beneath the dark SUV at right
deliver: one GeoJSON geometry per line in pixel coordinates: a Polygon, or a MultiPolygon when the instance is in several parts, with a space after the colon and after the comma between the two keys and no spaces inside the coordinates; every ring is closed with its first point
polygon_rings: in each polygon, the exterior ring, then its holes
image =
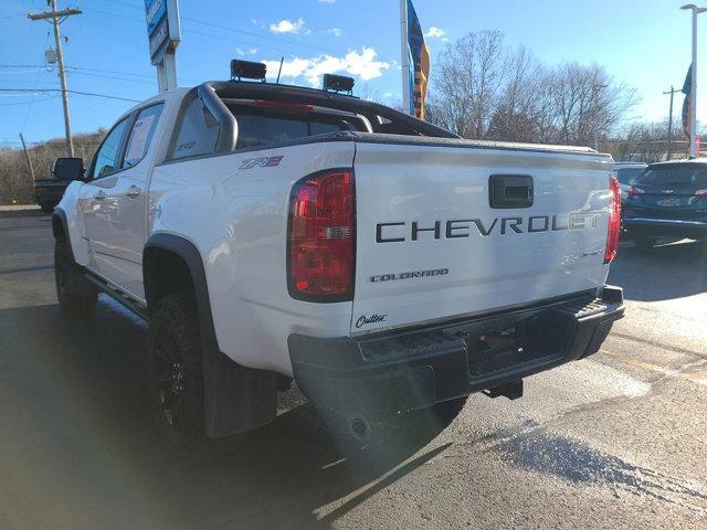
{"type": "Polygon", "coordinates": [[[622,242],[608,282],[630,300],[658,301],[707,292],[707,243],[673,243],[642,251],[622,242]]]}

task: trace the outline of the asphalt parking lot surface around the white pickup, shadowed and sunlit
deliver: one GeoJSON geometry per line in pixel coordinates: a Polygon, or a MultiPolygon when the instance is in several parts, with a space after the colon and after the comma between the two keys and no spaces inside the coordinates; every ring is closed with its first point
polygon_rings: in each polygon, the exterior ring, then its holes
{"type": "Polygon", "coordinates": [[[144,325],[67,327],[50,218],[0,212],[0,528],[707,528],[707,245],[622,243],[591,359],[473,395],[433,439],[345,459],[305,405],[200,465],[163,454],[144,325]]]}

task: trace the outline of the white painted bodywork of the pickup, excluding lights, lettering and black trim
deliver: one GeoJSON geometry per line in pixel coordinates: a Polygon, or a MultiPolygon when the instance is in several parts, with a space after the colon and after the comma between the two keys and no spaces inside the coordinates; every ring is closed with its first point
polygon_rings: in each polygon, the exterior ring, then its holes
{"type": "MultiPolygon", "coordinates": [[[[415,145],[310,142],[171,163],[165,159],[184,89],[161,94],[160,124],[145,159],[115,182],[72,183],[60,203],[76,261],[144,301],[141,248],[154,233],[183,237],[203,262],[221,351],[242,365],[292,375],[291,333],[346,337],[489,311],[603,284],[606,218],[595,230],[376,244],[376,223],[493,219],[488,176],[531,174],[532,214],[606,211],[611,158],[553,151],[415,145]],[[277,167],[239,169],[243,160],[283,156],[277,167]],[[289,193],[303,177],[355,168],[357,272],[352,301],[316,304],[287,292],[289,193]],[[115,194],[96,205],[96,187],[115,194]],[[120,194],[143,190],[137,201],[120,194]],[[99,218],[99,219],[97,219],[99,218]],[[583,256],[588,250],[598,250],[583,256]],[[106,257],[107,256],[107,257],[106,257]],[[445,267],[441,278],[373,284],[372,274],[445,267]],[[386,320],[356,328],[371,312],[386,320]]],[[[108,193],[107,193],[108,194],[108,193]]]]}

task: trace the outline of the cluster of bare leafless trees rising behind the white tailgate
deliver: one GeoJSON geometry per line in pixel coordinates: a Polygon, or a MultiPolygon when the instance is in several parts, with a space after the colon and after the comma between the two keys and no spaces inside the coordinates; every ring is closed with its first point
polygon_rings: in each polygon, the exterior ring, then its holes
{"type": "Polygon", "coordinates": [[[636,103],[602,66],[547,67],[496,31],[467,34],[436,64],[428,120],[465,138],[591,146],[636,103]]]}

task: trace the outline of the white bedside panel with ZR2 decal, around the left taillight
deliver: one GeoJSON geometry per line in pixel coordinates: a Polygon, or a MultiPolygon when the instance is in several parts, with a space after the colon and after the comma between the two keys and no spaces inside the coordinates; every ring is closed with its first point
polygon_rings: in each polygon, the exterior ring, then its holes
{"type": "Polygon", "coordinates": [[[201,253],[221,351],[250,368],[292,375],[287,337],[344,337],[351,303],[312,304],[287,292],[289,191],[306,174],[351,167],[354,142],[309,144],[155,168],[149,231],[186,236],[201,253]],[[283,156],[274,168],[243,160],[283,156]]]}

